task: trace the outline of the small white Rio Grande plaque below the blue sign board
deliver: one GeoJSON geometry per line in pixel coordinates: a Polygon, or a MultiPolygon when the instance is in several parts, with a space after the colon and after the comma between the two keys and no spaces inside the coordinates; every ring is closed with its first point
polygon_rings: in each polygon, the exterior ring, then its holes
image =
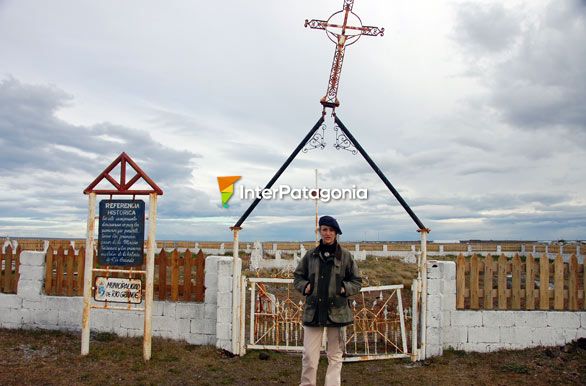
{"type": "Polygon", "coordinates": [[[142,282],[140,279],[98,276],[94,299],[98,302],[139,304],[142,302],[142,282]]]}

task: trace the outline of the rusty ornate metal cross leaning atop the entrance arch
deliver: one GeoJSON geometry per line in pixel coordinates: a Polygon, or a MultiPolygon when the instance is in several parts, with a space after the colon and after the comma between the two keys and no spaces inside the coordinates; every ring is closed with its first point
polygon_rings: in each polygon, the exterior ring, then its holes
{"type": "Polygon", "coordinates": [[[340,83],[340,74],[342,72],[342,62],[344,61],[346,46],[356,43],[362,35],[383,36],[385,32],[384,28],[363,26],[362,20],[352,12],[354,0],[343,1],[344,5],[342,10],[332,14],[328,20],[305,20],[305,27],[309,26],[313,29],[325,30],[327,37],[336,44],[328,90],[326,91],[326,95],[320,99],[320,103],[324,106],[324,113],[326,107],[335,110],[336,107],[340,106],[338,85],[340,83]],[[357,23],[358,26],[349,25],[350,21],[357,23]]]}

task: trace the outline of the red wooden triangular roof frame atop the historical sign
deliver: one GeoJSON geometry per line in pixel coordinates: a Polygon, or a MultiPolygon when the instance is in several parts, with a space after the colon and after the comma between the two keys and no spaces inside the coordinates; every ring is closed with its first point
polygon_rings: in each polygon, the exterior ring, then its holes
{"type": "Polygon", "coordinates": [[[132,194],[132,195],[147,195],[150,193],[163,194],[163,190],[155,184],[153,180],[142,169],[130,158],[126,153],[122,153],[108,166],[100,175],[88,185],[83,191],[84,194],[96,193],[96,194],[132,194]],[[120,165],[120,180],[116,180],[110,175],[110,172],[120,165]],[[130,165],[136,173],[130,180],[126,180],[126,167],[130,165]],[[138,180],[143,179],[152,190],[133,190],[134,185],[138,180]],[[104,179],[108,180],[115,189],[94,189],[104,179]]]}

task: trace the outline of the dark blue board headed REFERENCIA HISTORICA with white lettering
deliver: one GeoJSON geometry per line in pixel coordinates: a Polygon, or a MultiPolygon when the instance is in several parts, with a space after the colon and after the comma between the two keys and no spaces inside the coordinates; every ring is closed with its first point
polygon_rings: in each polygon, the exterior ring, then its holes
{"type": "Polygon", "coordinates": [[[144,201],[102,200],[98,238],[102,265],[142,265],[144,201]]]}

